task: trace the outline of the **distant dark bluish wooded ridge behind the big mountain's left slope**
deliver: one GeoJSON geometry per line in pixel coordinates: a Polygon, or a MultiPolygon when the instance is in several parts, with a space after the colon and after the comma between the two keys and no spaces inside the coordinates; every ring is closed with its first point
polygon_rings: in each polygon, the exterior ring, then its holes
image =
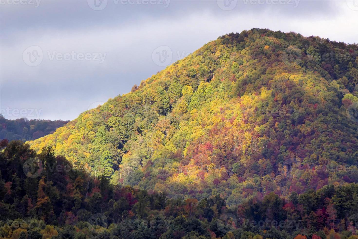
{"type": "Polygon", "coordinates": [[[35,140],[47,134],[52,134],[55,130],[69,121],[63,120],[28,120],[20,118],[8,120],[0,115],[0,139],[11,140],[35,140]]]}

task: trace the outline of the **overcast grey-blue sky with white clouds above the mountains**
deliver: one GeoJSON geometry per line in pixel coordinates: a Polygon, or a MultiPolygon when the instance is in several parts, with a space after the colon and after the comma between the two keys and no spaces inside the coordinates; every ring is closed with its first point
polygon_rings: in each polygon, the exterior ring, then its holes
{"type": "Polygon", "coordinates": [[[0,110],[72,120],[219,36],[358,42],[358,0],[0,0],[0,110]]]}

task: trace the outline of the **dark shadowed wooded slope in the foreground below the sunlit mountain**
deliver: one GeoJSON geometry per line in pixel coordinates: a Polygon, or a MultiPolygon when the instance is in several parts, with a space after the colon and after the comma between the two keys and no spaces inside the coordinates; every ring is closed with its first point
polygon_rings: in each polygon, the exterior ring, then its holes
{"type": "Polygon", "coordinates": [[[358,184],[229,206],[111,185],[51,148],[0,141],[0,238],[357,239],[358,184]],[[5,147],[5,148],[4,148],[5,147]]]}

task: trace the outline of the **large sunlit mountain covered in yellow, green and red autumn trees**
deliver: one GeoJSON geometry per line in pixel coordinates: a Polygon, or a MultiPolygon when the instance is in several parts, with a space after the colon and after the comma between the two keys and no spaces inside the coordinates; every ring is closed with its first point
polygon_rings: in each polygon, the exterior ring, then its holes
{"type": "Polygon", "coordinates": [[[251,29],[30,142],[113,183],[240,204],[358,182],[358,46],[251,29]]]}

